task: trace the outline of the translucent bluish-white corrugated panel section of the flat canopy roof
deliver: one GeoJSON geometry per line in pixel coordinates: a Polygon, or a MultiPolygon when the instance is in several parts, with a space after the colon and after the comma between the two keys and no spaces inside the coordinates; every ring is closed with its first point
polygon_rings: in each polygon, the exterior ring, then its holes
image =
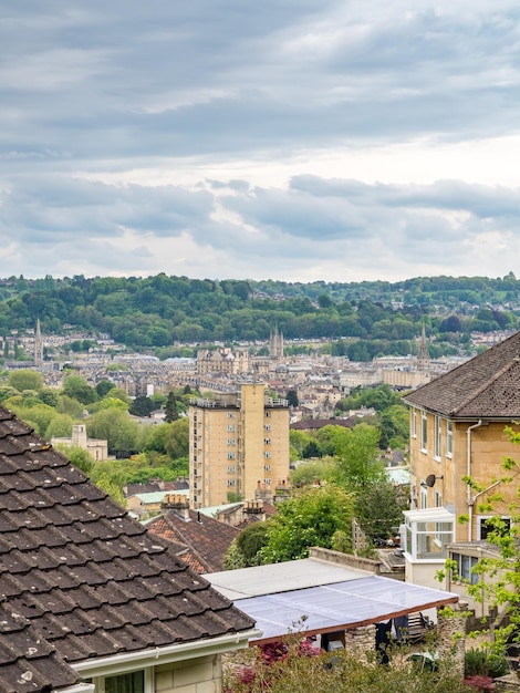
{"type": "Polygon", "coordinates": [[[377,623],[457,601],[451,592],[371,576],[240,599],[237,606],[263,631],[259,641],[267,641],[300,630],[312,634],[377,623]]]}

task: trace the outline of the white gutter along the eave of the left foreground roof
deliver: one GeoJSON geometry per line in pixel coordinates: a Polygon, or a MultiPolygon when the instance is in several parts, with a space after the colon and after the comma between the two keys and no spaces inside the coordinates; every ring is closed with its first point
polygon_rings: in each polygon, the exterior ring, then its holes
{"type": "Polygon", "coordinates": [[[85,678],[112,675],[135,669],[158,666],[159,664],[193,660],[199,656],[220,654],[229,650],[243,649],[248,647],[249,640],[258,639],[262,633],[263,631],[260,629],[251,628],[247,631],[228,633],[219,638],[208,638],[207,640],[181,642],[164,648],[122,652],[121,654],[113,654],[111,656],[83,660],[82,662],[70,663],[70,666],[85,678]]]}

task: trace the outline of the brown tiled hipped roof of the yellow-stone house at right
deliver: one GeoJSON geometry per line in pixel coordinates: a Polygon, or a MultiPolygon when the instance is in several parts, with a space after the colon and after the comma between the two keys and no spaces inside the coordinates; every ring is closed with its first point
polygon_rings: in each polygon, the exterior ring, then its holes
{"type": "Polygon", "coordinates": [[[406,395],[451,418],[520,418],[520,332],[406,395]]]}

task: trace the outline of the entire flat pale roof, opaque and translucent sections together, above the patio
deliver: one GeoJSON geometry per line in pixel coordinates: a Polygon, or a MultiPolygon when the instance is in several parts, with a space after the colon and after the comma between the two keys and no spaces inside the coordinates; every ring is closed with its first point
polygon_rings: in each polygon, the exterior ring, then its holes
{"type": "Polygon", "coordinates": [[[378,623],[459,599],[453,592],[311,558],[205,577],[256,620],[262,630],[256,644],[290,632],[312,635],[378,623]]]}

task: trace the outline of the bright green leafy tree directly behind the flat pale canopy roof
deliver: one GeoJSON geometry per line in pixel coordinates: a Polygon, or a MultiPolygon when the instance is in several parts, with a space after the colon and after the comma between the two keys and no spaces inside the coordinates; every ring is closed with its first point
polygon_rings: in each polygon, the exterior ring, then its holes
{"type": "Polygon", "coordinates": [[[350,531],[354,498],[333,485],[305,489],[280,504],[261,549],[264,563],[306,558],[311,546],[332,548],[336,531],[350,531]]]}

